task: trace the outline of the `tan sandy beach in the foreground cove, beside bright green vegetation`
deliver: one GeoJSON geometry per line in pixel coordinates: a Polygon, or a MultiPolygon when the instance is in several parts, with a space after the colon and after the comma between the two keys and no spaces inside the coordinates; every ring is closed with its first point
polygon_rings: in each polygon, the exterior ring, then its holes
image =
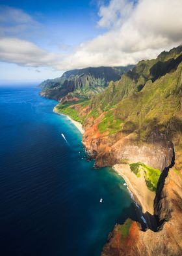
{"type": "Polygon", "coordinates": [[[142,172],[140,178],[137,178],[131,172],[129,165],[114,165],[113,168],[124,178],[129,191],[131,191],[136,202],[142,207],[142,212],[149,212],[149,214],[153,215],[155,193],[150,191],[146,186],[142,172]]]}

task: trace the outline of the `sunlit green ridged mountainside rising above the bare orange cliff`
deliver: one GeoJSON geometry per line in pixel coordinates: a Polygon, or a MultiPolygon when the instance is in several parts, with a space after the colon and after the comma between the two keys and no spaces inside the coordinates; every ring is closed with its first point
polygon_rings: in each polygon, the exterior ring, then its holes
{"type": "Polygon", "coordinates": [[[181,72],[179,46],[162,52],[156,59],[140,61],[132,71],[123,74],[119,81],[110,82],[103,93],[92,98],[86,111],[85,106],[70,103],[65,108],[63,104],[60,112],[68,113],[68,108],[72,108],[85,127],[97,127],[100,137],[120,134],[137,143],[168,140],[181,152],[181,72]]]}

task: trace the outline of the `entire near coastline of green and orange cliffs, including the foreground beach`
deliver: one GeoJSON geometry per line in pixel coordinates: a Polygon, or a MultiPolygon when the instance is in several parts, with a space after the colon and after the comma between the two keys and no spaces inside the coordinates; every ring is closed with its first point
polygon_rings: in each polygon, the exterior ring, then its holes
{"type": "Polygon", "coordinates": [[[117,224],[103,256],[182,255],[181,97],[179,46],[140,61],[90,101],[57,105],[83,124],[90,157],[115,165],[148,221],[145,232],[133,220],[117,224]]]}

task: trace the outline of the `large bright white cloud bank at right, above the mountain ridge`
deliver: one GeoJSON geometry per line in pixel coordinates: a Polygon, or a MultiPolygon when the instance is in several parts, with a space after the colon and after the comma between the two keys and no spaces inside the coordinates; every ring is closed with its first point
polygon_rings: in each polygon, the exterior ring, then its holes
{"type": "Polygon", "coordinates": [[[181,44],[181,10],[181,0],[110,0],[100,7],[98,22],[109,31],[81,44],[64,67],[127,65],[156,57],[181,44]]]}

